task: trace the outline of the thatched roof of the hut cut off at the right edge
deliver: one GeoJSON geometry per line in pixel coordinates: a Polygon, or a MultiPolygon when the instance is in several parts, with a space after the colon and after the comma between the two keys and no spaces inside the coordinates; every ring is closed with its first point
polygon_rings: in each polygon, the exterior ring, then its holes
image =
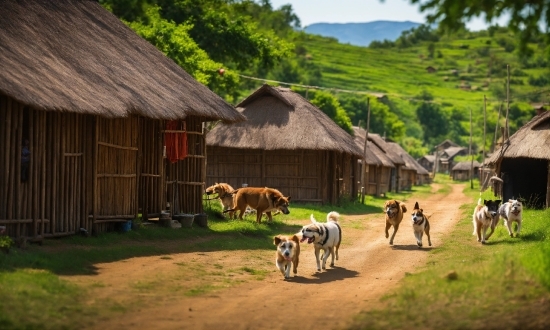
{"type": "Polygon", "coordinates": [[[517,130],[508,142],[485,160],[492,166],[501,158],[550,160],[550,112],[543,112],[517,130]]]}

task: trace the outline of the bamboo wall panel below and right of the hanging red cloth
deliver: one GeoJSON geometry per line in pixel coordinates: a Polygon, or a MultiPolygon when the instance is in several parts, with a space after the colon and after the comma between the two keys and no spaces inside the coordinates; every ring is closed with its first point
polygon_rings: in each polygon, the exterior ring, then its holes
{"type": "Polygon", "coordinates": [[[172,213],[202,213],[206,182],[206,141],[199,117],[188,117],[178,128],[187,136],[187,157],[166,159],[166,196],[172,213]]]}

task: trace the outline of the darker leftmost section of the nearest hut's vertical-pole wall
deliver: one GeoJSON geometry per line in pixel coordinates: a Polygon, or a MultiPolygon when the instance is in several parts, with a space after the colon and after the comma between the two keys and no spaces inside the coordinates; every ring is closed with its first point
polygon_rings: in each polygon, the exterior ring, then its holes
{"type": "Polygon", "coordinates": [[[0,125],[0,225],[8,235],[41,240],[91,229],[93,117],[37,111],[0,96],[0,125]]]}

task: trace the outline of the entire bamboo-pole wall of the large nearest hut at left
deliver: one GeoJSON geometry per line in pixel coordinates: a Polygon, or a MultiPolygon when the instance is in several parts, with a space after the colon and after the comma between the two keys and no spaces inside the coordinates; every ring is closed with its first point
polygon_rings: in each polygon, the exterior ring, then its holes
{"type": "Polygon", "coordinates": [[[178,178],[179,205],[201,212],[202,123],[187,121],[192,155],[165,166],[161,120],[39,111],[0,95],[0,225],[36,241],[115,230],[140,210],[154,216],[166,209],[167,168],[178,178]],[[31,156],[23,182],[25,139],[31,156]]]}

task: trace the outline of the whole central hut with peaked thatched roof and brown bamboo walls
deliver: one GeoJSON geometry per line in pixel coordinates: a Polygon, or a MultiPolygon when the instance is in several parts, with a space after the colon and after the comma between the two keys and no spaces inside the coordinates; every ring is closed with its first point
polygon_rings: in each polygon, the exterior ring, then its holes
{"type": "Polygon", "coordinates": [[[207,134],[207,182],[279,189],[292,201],[332,203],[358,194],[353,137],[288,88],[264,84],[237,105],[246,122],[207,134]]]}

